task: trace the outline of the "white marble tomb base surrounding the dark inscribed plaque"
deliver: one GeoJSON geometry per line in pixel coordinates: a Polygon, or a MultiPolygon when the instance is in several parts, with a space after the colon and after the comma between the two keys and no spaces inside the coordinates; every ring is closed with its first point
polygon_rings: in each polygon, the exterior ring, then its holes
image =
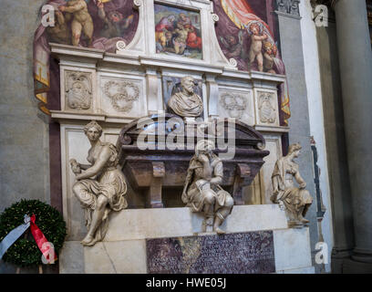
{"type": "MultiPolygon", "coordinates": [[[[212,236],[211,240],[219,243],[218,235],[202,234],[202,220],[201,214],[193,214],[189,208],[136,209],[110,214],[109,231],[103,242],[86,247],[78,241],[65,243],[59,256],[60,273],[148,273],[151,240],[200,241],[202,236],[212,236]]],[[[250,238],[260,235],[268,238],[271,246],[256,246],[262,254],[268,253],[264,256],[271,265],[266,265],[262,272],[314,273],[308,228],[288,229],[285,214],[277,205],[234,206],[222,229],[227,232],[223,235],[225,241],[236,240],[237,236],[250,243],[250,238]],[[274,253],[269,253],[271,250],[274,253]]],[[[246,260],[257,257],[247,255],[246,260]]],[[[250,272],[233,270],[239,271],[250,272]]]]}

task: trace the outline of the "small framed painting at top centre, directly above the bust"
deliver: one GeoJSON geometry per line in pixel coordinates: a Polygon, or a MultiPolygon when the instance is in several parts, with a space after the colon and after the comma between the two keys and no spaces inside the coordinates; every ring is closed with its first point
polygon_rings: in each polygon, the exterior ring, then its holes
{"type": "Polygon", "coordinates": [[[156,52],[202,59],[199,13],[169,5],[154,5],[156,52]]]}

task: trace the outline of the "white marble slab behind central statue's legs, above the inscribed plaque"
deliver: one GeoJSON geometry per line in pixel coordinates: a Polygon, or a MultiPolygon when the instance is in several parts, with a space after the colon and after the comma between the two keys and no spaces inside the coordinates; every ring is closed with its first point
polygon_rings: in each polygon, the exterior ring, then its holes
{"type": "MultiPolygon", "coordinates": [[[[105,241],[194,235],[202,232],[202,220],[186,207],[123,210],[110,214],[105,241]]],[[[276,204],[234,206],[222,224],[228,233],[286,227],[285,214],[276,204]]]]}

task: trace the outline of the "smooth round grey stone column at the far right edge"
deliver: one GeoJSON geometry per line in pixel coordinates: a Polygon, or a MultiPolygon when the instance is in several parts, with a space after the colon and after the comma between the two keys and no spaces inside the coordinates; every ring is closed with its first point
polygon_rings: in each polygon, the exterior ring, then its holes
{"type": "Polygon", "coordinates": [[[333,7],[353,201],[352,258],[372,264],[372,51],[367,6],[366,0],[337,0],[333,7]]]}

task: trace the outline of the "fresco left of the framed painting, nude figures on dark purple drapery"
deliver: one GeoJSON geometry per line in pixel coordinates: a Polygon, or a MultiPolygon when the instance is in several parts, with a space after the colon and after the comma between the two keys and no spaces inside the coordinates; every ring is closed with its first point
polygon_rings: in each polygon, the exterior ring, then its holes
{"type": "Polygon", "coordinates": [[[54,76],[48,43],[115,52],[119,40],[129,44],[133,39],[139,13],[133,8],[133,0],[51,0],[45,5],[55,8],[55,26],[43,26],[44,14],[39,16],[34,38],[34,80],[39,108],[48,112],[47,91],[54,76]]]}

